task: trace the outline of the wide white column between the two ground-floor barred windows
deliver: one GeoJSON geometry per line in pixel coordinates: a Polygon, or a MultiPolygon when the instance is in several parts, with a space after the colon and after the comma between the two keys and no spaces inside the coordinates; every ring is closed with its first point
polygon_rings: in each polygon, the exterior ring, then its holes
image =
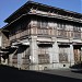
{"type": "Polygon", "coordinates": [[[54,42],[52,48],[49,48],[49,55],[50,55],[50,65],[52,69],[56,69],[59,67],[59,47],[57,42],[54,42]]]}

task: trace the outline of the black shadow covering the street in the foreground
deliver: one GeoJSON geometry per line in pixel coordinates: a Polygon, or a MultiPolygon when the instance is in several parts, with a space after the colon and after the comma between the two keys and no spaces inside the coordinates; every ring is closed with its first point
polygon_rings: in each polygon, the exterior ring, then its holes
{"type": "Polygon", "coordinates": [[[0,66],[0,82],[82,82],[79,79],[0,66]]]}

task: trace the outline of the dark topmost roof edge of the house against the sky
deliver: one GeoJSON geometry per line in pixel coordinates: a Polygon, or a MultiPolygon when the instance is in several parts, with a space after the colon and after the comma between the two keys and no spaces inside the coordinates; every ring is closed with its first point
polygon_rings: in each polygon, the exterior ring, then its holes
{"type": "Polygon", "coordinates": [[[50,11],[50,12],[54,12],[55,10],[57,10],[58,12],[65,12],[65,13],[68,13],[68,14],[71,14],[71,15],[75,15],[77,17],[80,17],[82,19],[82,14],[81,13],[78,13],[78,12],[73,12],[73,11],[68,11],[68,10],[65,10],[65,9],[60,9],[60,8],[56,8],[56,7],[51,7],[51,5],[47,5],[47,4],[43,4],[43,3],[38,3],[38,2],[34,2],[34,1],[27,1],[24,5],[22,5],[19,10],[16,10],[14,13],[12,13],[8,19],[4,20],[4,22],[9,22],[10,19],[12,19],[12,16],[14,16],[16,13],[20,13],[22,12],[22,10],[25,8],[25,7],[36,7],[36,8],[42,8],[43,10],[47,10],[47,11],[50,11]]]}

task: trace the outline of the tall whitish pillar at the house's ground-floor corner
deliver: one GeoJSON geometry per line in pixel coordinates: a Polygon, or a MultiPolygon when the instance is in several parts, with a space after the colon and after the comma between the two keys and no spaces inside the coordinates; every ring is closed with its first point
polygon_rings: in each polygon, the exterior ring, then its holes
{"type": "Polygon", "coordinates": [[[36,39],[37,39],[37,36],[32,36],[32,39],[31,39],[31,62],[34,63],[34,65],[37,65],[38,63],[38,46],[37,46],[37,43],[36,43],[36,39]]]}

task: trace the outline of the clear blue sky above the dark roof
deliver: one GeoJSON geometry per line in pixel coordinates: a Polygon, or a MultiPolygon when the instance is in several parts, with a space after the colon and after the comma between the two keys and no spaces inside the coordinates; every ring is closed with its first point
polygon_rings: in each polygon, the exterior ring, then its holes
{"type": "MultiPolygon", "coordinates": [[[[0,27],[7,23],[3,21],[28,0],[1,0],[0,1],[0,27]]],[[[82,0],[32,0],[44,4],[82,13],[82,0]]]]}

